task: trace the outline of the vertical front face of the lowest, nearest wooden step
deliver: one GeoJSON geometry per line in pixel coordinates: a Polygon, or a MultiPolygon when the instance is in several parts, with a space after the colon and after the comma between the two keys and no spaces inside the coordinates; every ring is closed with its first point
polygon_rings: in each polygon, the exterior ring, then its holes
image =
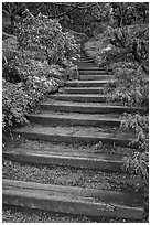
{"type": "Polygon", "coordinates": [[[21,193],[3,191],[2,194],[3,204],[15,205],[21,207],[36,208],[51,211],[56,213],[67,213],[75,215],[88,215],[88,216],[105,216],[105,217],[121,217],[131,219],[142,219],[142,208],[121,207],[117,211],[105,208],[105,204],[89,204],[88,202],[67,201],[67,200],[54,200],[52,197],[34,195],[28,196],[21,193]]]}

